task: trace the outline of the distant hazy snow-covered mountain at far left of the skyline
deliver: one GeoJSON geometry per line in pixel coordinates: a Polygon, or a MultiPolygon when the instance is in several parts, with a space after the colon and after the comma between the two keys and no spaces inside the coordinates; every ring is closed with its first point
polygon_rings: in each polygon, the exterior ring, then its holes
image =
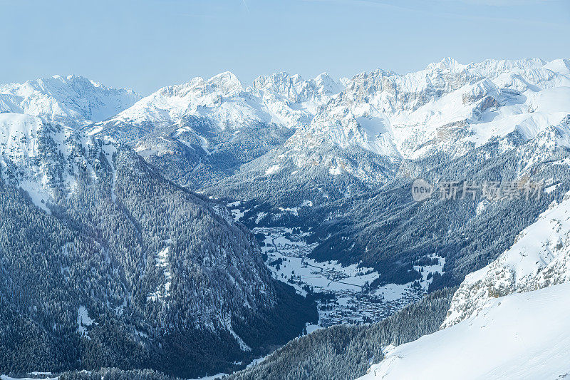
{"type": "Polygon", "coordinates": [[[76,125],[105,120],[139,99],[129,88],[108,88],[74,75],[0,85],[0,113],[26,113],[76,125]]]}

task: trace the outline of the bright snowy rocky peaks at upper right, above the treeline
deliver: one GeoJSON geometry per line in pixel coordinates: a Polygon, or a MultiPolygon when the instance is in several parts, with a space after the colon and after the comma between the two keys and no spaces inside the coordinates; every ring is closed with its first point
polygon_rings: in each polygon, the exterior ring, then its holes
{"type": "Polygon", "coordinates": [[[533,138],[570,112],[569,67],[568,60],[462,65],[445,58],[403,76],[362,73],[294,138],[405,158],[460,155],[515,128],[533,138]]]}

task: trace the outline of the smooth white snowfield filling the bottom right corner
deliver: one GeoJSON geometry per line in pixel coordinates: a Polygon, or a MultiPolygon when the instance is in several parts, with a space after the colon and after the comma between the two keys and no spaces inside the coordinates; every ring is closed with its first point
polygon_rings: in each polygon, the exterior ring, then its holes
{"type": "Polygon", "coordinates": [[[362,380],[566,379],[570,284],[489,299],[459,324],[389,349],[362,380]]]}

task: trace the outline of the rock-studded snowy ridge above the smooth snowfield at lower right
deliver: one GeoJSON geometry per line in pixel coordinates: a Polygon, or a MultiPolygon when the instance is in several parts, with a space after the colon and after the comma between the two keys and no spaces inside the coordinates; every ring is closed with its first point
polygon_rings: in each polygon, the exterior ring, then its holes
{"type": "Polygon", "coordinates": [[[443,327],[477,314],[488,299],[528,292],[570,279],[570,193],[525,228],[514,245],[455,292],[443,327]]]}

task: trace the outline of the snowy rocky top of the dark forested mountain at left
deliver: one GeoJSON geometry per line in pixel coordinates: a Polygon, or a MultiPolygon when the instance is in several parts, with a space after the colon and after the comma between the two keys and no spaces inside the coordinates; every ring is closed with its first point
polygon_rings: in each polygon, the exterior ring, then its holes
{"type": "Polygon", "coordinates": [[[55,192],[75,191],[79,176],[96,180],[94,165],[101,153],[113,168],[109,153],[114,150],[109,142],[88,138],[69,125],[0,113],[0,179],[26,190],[46,212],[55,192]]]}

